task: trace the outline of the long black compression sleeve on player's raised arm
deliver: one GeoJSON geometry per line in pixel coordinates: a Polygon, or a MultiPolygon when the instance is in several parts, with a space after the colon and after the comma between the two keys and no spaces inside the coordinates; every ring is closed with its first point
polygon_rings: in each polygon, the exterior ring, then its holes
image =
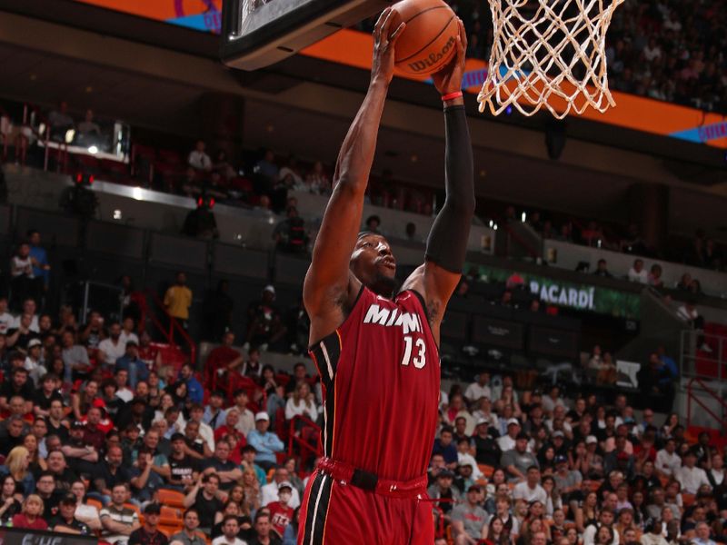
{"type": "Polygon", "coordinates": [[[464,106],[444,110],[446,198],[426,242],[426,259],[461,273],[474,214],[472,142],[464,106]]]}

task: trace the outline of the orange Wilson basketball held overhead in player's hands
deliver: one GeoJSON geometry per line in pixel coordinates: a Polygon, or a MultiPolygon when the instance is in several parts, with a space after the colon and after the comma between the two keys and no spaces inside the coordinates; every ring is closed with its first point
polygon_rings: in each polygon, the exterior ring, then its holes
{"type": "Polygon", "coordinates": [[[393,30],[406,23],[396,42],[396,67],[412,75],[442,69],[457,50],[459,28],[450,6],[443,0],[403,0],[393,5],[393,11],[393,30]]]}

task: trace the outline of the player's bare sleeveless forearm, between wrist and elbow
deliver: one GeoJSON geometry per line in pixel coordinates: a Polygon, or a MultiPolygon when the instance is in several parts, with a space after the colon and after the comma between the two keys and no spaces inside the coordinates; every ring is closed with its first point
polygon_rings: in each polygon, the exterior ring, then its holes
{"type": "Polygon", "coordinates": [[[334,187],[341,184],[360,193],[366,190],[388,89],[388,83],[373,78],[338,154],[334,187]]]}

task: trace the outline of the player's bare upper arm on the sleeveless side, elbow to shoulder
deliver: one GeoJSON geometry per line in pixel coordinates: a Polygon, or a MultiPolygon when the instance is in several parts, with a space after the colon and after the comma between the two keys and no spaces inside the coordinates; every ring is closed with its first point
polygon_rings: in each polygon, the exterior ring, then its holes
{"type": "Polygon", "coordinates": [[[364,193],[338,183],[315,238],[313,260],[305,274],[303,297],[312,315],[327,312],[348,290],[349,262],[361,225],[364,193]]]}

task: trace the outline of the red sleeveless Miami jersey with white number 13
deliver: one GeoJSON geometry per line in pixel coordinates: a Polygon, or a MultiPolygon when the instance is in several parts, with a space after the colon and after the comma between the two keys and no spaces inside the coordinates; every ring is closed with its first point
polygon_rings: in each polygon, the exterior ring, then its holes
{"type": "Polygon", "coordinates": [[[426,473],[440,389],[439,351],[421,295],[363,287],[344,323],[311,347],[324,386],[325,456],[382,479],[426,473]]]}

